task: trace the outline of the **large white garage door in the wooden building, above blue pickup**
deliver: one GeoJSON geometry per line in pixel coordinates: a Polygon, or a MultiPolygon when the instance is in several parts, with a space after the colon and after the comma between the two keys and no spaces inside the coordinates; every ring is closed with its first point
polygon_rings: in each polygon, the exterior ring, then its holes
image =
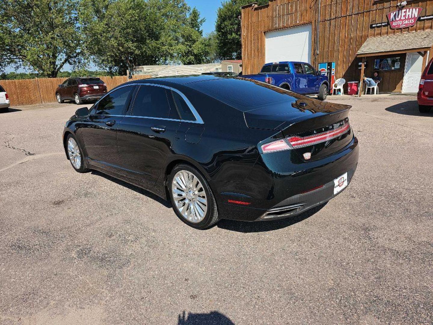
{"type": "Polygon", "coordinates": [[[265,62],[310,63],[311,24],[275,30],[265,34],[265,62]]]}

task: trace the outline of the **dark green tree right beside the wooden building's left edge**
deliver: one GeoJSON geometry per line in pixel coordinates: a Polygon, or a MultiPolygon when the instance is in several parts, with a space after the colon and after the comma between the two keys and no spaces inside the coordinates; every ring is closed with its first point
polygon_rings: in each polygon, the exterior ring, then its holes
{"type": "MultiPolygon", "coordinates": [[[[251,0],[227,0],[221,3],[216,16],[215,32],[218,56],[221,59],[241,59],[241,7],[251,0]]],[[[268,0],[256,0],[259,5],[268,0]]]]}

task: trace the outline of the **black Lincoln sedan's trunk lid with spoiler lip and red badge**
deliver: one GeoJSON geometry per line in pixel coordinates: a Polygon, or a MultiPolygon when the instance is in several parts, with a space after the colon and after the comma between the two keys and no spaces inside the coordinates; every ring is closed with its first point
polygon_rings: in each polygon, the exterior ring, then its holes
{"type": "Polygon", "coordinates": [[[305,161],[329,156],[352,140],[350,106],[310,98],[298,98],[289,108],[284,105],[287,102],[244,112],[247,126],[280,131],[277,137],[284,137],[305,161]]]}

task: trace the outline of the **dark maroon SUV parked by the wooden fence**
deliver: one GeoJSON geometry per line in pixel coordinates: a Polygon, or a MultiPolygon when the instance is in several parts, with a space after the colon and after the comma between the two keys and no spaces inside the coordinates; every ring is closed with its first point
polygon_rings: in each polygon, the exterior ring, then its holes
{"type": "Polygon", "coordinates": [[[100,78],[69,78],[58,85],[55,97],[59,103],[73,100],[75,104],[83,101],[99,99],[107,93],[107,85],[100,78]]]}

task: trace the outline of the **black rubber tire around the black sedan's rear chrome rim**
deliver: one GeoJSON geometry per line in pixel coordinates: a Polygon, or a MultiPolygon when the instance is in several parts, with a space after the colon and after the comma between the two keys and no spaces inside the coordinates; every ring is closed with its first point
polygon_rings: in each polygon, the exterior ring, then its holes
{"type": "Polygon", "coordinates": [[[206,179],[204,179],[203,175],[201,175],[201,173],[197,169],[195,169],[189,165],[185,165],[185,164],[176,165],[173,168],[173,170],[171,171],[170,175],[168,176],[168,192],[170,195],[171,204],[173,205],[174,213],[178,216],[179,219],[181,219],[188,226],[194,227],[196,229],[206,229],[208,227],[213,226],[214,224],[216,224],[220,220],[220,217],[218,214],[218,209],[216,207],[216,200],[215,200],[215,197],[212,193],[212,189],[209,187],[206,179]],[[176,202],[174,201],[173,191],[172,191],[173,179],[174,179],[174,176],[182,170],[187,171],[187,172],[191,172],[192,174],[194,174],[194,176],[201,182],[203,189],[204,189],[204,192],[206,194],[207,211],[206,211],[206,214],[204,215],[204,218],[200,222],[194,223],[194,222],[187,220],[181,214],[181,212],[179,212],[179,210],[176,206],[176,202]]]}

